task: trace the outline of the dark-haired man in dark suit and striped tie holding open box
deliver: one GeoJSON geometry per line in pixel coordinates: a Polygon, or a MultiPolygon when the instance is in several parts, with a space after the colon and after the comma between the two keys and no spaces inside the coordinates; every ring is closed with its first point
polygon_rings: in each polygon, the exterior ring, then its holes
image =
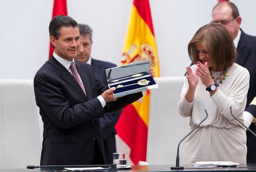
{"type": "Polygon", "coordinates": [[[35,100],[43,121],[40,165],[104,164],[99,118],[138,100],[142,93],[115,99],[115,88],[102,85],[88,64],[74,61],[80,33],[71,17],[54,17],[49,33],[53,56],[34,77],[35,100]],[[70,71],[73,62],[74,72],[70,71]]]}

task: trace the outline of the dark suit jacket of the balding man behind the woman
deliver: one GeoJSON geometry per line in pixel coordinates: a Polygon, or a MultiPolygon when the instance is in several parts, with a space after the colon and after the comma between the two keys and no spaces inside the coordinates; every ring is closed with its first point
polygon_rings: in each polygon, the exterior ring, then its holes
{"type": "MultiPolygon", "coordinates": [[[[249,105],[256,96],[256,37],[247,35],[241,30],[241,36],[237,45],[237,64],[244,66],[250,73],[250,87],[247,94],[247,106],[249,111],[256,118],[256,106],[249,105]]],[[[255,124],[250,129],[256,133],[255,124]]],[[[256,137],[247,131],[247,163],[256,163],[256,137]]]]}

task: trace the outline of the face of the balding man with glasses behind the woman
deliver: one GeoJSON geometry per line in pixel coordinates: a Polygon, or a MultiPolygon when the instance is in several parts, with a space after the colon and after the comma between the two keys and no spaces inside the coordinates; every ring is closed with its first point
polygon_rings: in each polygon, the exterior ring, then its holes
{"type": "Polygon", "coordinates": [[[224,25],[233,40],[239,32],[241,21],[242,20],[240,16],[236,19],[233,19],[231,7],[229,6],[217,6],[213,11],[213,22],[219,22],[220,24],[224,25]],[[226,25],[222,24],[221,22],[225,20],[226,25]]]}

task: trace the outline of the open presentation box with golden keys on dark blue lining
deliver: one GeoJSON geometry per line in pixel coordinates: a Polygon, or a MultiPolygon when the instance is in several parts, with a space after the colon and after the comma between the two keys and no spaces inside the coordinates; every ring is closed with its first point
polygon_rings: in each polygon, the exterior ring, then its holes
{"type": "Polygon", "coordinates": [[[114,98],[157,88],[150,68],[150,60],[144,60],[106,69],[109,88],[116,87],[114,98]]]}

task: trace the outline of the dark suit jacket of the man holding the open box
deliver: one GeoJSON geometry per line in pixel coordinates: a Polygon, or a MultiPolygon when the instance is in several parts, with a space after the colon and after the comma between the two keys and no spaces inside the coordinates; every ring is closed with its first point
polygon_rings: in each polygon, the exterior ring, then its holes
{"type": "Polygon", "coordinates": [[[76,61],[86,95],[66,68],[50,58],[34,77],[34,92],[43,121],[40,165],[86,165],[104,163],[103,138],[99,118],[142,97],[135,93],[103,108],[98,95],[106,85],[94,75],[89,64],[76,61]],[[99,147],[96,148],[95,147],[99,147]],[[94,154],[98,157],[94,157],[94,154]],[[98,161],[95,161],[98,160],[98,161]]]}

